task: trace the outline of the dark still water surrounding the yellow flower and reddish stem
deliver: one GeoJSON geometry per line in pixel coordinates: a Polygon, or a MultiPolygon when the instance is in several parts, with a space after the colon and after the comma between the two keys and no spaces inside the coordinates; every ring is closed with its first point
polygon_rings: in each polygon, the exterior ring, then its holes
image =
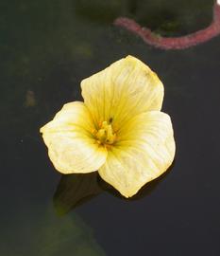
{"type": "Polygon", "coordinates": [[[212,1],[0,3],[1,256],[220,255],[220,37],[159,50],[113,27],[120,15],[181,35],[210,24],[212,1]],[[128,54],[159,74],[177,141],[170,172],[132,200],[97,174],[61,178],[39,134],[128,54]]]}

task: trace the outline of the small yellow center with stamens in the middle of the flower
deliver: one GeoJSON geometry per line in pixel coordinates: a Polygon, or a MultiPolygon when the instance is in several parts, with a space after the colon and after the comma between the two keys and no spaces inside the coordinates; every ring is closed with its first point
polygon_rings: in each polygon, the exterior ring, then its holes
{"type": "Polygon", "coordinates": [[[115,141],[116,134],[113,132],[111,124],[103,121],[95,137],[99,144],[112,144],[115,141]]]}

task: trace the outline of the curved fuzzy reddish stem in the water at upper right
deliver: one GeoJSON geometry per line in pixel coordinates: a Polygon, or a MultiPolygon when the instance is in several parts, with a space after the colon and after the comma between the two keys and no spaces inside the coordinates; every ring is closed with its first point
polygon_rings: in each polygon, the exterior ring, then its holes
{"type": "Polygon", "coordinates": [[[124,27],[139,35],[145,43],[161,49],[183,49],[207,42],[220,34],[220,5],[213,6],[213,20],[209,27],[180,37],[161,37],[149,28],[141,27],[135,21],[126,17],[119,17],[114,21],[115,26],[124,27]]]}

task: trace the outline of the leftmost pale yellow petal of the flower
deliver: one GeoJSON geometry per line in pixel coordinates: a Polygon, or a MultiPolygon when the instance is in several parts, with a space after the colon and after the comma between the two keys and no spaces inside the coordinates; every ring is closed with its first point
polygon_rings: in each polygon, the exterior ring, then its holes
{"type": "Polygon", "coordinates": [[[107,151],[92,136],[93,120],[83,102],[67,103],[41,129],[48,155],[62,174],[90,173],[106,161],[107,151]]]}

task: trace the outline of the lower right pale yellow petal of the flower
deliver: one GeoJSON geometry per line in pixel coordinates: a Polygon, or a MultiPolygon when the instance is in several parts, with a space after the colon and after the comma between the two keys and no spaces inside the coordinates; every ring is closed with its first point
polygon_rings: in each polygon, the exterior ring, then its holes
{"type": "Polygon", "coordinates": [[[130,119],[118,139],[98,172],[126,197],[163,174],[173,162],[172,123],[162,112],[150,111],[130,119]]]}

